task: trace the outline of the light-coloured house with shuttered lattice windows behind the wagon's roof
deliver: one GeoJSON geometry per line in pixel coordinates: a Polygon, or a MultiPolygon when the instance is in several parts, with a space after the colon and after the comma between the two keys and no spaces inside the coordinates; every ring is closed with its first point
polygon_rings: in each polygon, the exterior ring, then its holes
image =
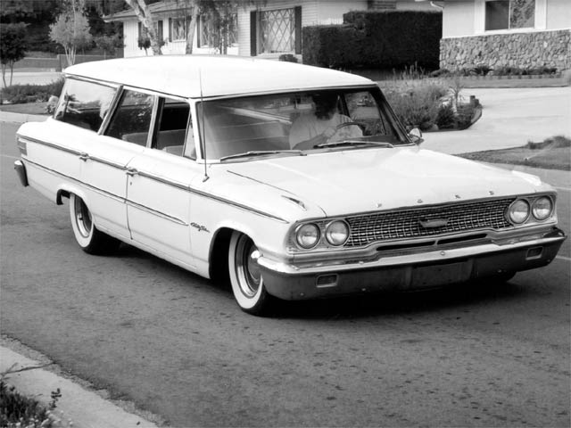
{"type": "MultiPolygon", "coordinates": [[[[163,54],[185,53],[188,18],[180,3],[150,4],[156,30],[164,42],[163,54]]],[[[194,33],[193,53],[221,53],[276,58],[284,53],[302,54],[302,28],[310,25],[343,23],[343,13],[353,10],[434,10],[431,4],[416,0],[267,0],[244,2],[226,31],[220,34],[211,17],[199,17],[194,33]]],[[[152,54],[139,47],[145,29],[131,10],[105,17],[123,22],[124,55],[152,54]]]]}

